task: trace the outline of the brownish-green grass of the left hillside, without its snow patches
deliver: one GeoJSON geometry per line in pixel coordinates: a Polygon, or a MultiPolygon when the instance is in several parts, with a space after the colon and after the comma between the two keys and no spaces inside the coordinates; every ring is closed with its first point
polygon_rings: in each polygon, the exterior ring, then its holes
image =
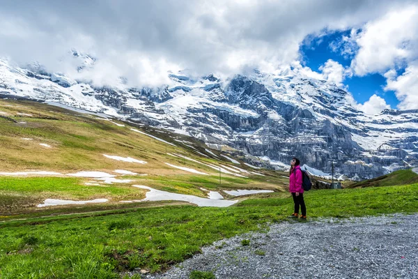
{"type": "MultiPolygon", "coordinates": [[[[17,121],[0,118],[0,172],[38,170],[63,174],[78,171],[112,173],[114,169],[126,169],[138,174],[148,174],[148,176],[123,176],[123,179],[133,179],[132,183],[103,186],[84,185],[92,179],[0,176],[0,215],[46,210],[36,209],[35,205],[48,197],[107,198],[110,202],[144,197],[145,191],[130,187],[132,184],[205,197],[206,193],[200,190],[201,187],[217,190],[232,188],[282,190],[287,183],[279,174],[264,170],[262,172],[266,176],[249,175],[248,179],[222,174],[222,184],[219,185],[219,174],[214,169],[190,160],[169,156],[167,153],[181,153],[203,163],[233,164],[226,160],[201,156],[189,146],[174,141],[174,138],[192,141],[196,149],[206,153],[205,146],[201,142],[182,135],[160,133],[151,128],[132,127],[127,123],[123,123],[124,127],[116,126],[109,121],[97,119],[94,115],[79,114],[60,107],[27,101],[0,100],[0,112],[17,121]],[[32,116],[23,116],[20,113],[32,116]],[[143,130],[173,142],[176,146],[141,135],[131,128],[143,130]],[[23,138],[33,140],[23,140],[23,138]],[[41,143],[49,144],[52,148],[40,146],[41,143]],[[132,157],[148,163],[146,165],[125,163],[105,158],[103,154],[132,157]],[[196,176],[169,167],[165,163],[193,168],[210,175],[196,176]]],[[[253,170],[245,165],[240,167],[253,170]]]]}

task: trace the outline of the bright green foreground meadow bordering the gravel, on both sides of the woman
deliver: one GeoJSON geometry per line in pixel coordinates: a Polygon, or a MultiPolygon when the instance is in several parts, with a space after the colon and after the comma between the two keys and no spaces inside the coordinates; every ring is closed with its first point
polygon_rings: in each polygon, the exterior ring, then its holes
{"type": "MultiPolygon", "coordinates": [[[[308,218],[418,212],[418,184],[312,190],[308,218]]],[[[1,223],[1,278],[119,278],[182,262],[213,241],[266,228],[292,212],[289,195],[274,193],[229,208],[171,206],[1,223]],[[45,233],[47,232],[47,234],[45,233]]]]}

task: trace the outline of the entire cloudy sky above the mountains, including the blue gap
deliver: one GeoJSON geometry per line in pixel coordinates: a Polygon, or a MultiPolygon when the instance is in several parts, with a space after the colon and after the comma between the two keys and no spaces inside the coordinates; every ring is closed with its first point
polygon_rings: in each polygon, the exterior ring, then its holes
{"type": "Polygon", "coordinates": [[[418,108],[418,1],[5,0],[0,56],[84,78],[166,82],[167,71],[227,77],[286,65],[334,82],[360,109],[418,108]]]}

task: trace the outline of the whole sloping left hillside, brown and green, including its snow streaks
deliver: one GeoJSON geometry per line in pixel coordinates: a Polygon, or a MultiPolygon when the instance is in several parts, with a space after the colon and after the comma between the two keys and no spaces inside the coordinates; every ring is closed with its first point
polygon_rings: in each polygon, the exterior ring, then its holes
{"type": "MultiPolygon", "coordinates": [[[[144,199],[147,190],[133,185],[233,199],[224,190],[281,191],[287,184],[281,172],[141,123],[26,100],[0,100],[0,116],[1,215],[60,207],[36,207],[45,199],[108,199],[85,205],[94,210],[138,206],[131,201],[144,199]]],[[[68,207],[65,212],[80,210],[68,207]]]]}

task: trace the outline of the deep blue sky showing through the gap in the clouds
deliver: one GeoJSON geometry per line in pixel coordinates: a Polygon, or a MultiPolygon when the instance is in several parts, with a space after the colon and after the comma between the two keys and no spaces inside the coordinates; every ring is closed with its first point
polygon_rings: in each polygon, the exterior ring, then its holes
{"type": "MultiPolygon", "coordinates": [[[[349,67],[354,55],[343,55],[338,51],[334,52],[332,47],[330,47],[330,44],[340,40],[341,36],[349,35],[350,31],[334,32],[327,33],[325,36],[304,40],[304,43],[300,47],[304,65],[316,72],[320,72],[320,66],[328,59],[332,59],[339,62],[344,67],[349,67]]],[[[402,70],[403,69],[398,70],[398,73],[402,73],[402,70]]],[[[348,86],[348,91],[353,94],[353,97],[358,103],[366,102],[375,93],[384,98],[387,105],[390,105],[391,108],[396,108],[399,103],[394,91],[385,91],[383,89],[386,84],[386,78],[379,73],[369,73],[363,77],[356,75],[346,77],[343,84],[348,86]]]]}

